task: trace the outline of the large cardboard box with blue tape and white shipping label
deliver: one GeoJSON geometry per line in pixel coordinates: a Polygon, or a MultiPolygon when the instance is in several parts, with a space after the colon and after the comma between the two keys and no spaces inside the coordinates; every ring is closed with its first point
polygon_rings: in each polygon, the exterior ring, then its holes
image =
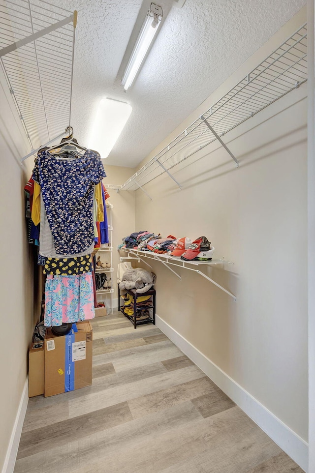
{"type": "Polygon", "coordinates": [[[45,397],[92,384],[92,326],[83,321],[72,327],[63,336],[46,330],[45,397]]]}

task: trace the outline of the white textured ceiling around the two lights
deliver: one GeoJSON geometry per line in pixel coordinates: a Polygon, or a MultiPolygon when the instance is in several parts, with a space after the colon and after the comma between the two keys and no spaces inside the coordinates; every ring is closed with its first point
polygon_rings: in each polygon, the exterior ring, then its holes
{"type": "Polygon", "coordinates": [[[72,124],[88,138],[99,100],[128,102],[132,114],[106,164],[135,167],[237,67],[305,3],[304,0],[156,1],[163,20],[134,85],[120,85],[148,0],[51,0],[78,10],[72,124]],[[66,4],[65,4],[66,3],[66,4]],[[125,54],[126,53],[126,54],[125,54]]]}

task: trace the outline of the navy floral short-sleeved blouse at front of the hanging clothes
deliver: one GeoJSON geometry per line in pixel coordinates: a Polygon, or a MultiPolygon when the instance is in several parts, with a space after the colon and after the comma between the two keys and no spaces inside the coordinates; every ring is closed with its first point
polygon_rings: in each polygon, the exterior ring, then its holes
{"type": "Polygon", "coordinates": [[[41,187],[56,253],[80,253],[94,242],[94,186],[103,177],[100,156],[91,149],[69,159],[38,154],[32,178],[41,187]]]}

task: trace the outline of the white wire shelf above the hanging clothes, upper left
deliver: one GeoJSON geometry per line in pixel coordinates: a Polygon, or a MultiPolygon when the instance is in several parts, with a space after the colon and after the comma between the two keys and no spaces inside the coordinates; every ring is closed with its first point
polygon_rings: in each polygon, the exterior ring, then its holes
{"type": "Polygon", "coordinates": [[[76,17],[43,0],[0,0],[0,62],[32,151],[70,125],[76,17]]]}

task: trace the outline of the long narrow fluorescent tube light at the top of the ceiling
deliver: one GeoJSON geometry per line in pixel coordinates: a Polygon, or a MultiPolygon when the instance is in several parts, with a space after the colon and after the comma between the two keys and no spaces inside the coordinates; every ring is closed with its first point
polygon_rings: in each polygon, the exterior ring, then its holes
{"type": "Polygon", "coordinates": [[[122,85],[125,90],[129,89],[134,81],[148,49],[157,34],[162,16],[162,8],[155,3],[151,3],[122,79],[122,85]]]}

